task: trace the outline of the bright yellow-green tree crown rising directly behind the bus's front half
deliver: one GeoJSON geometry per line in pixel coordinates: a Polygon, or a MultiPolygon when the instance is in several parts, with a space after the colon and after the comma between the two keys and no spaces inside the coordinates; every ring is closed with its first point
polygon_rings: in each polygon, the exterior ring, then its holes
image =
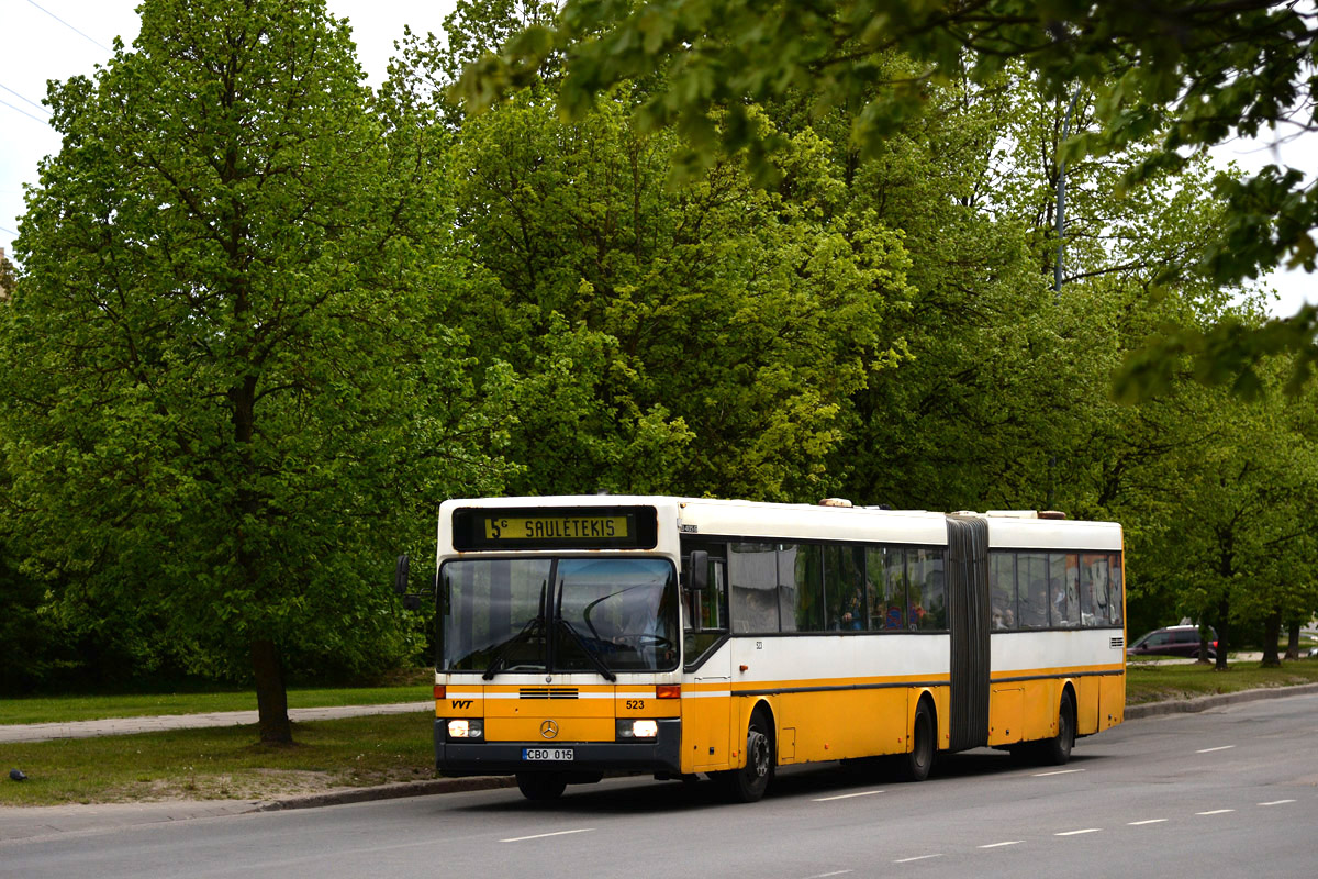
{"type": "Polygon", "coordinates": [[[776,159],[791,198],[735,159],[672,187],[680,141],[627,100],[564,124],[530,90],[460,132],[460,244],[489,285],[465,324],[521,387],[518,486],[815,497],[850,394],[896,356],[902,237],[824,207],[809,132],[776,159]]]}

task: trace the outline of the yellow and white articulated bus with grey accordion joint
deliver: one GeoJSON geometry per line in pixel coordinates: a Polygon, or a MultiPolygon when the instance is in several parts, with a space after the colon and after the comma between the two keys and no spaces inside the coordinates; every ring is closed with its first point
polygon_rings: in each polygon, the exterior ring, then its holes
{"type": "Polygon", "coordinates": [[[532,800],[1007,749],[1122,721],[1122,530],[1033,511],[673,497],[447,501],[435,760],[532,800]]]}

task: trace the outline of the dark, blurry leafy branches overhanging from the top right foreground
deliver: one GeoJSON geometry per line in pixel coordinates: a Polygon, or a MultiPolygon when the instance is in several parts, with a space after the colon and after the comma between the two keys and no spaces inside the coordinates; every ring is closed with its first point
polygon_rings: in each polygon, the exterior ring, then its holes
{"type": "MultiPolygon", "coordinates": [[[[851,142],[873,157],[924,112],[937,91],[932,86],[956,80],[967,65],[973,82],[988,83],[1019,61],[1050,96],[1081,90],[1095,98],[1098,124],[1068,145],[1072,158],[1122,150],[1157,133],[1159,148],[1127,174],[1133,184],[1238,134],[1313,130],[1311,18],[1305,7],[1282,0],[568,0],[556,21],[534,24],[501,53],[472,63],[459,91],[486,105],[550,66],[561,71],[561,105],[580,116],[617,83],[648,78],[652,88],[637,111],[642,130],[675,127],[696,165],[720,150],[742,150],[771,177],[767,156],[783,141],[745,124],[750,105],[805,95],[813,119],[845,108],[851,142]],[[916,67],[894,76],[891,50],[916,67]],[[729,121],[716,125],[713,111],[729,121]]],[[[1230,220],[1198,242],[1188,268],[1223,282],[1282,262],[1314,270],[1318,187],[1305,184],[1302,169],[1224,177],[1219,195],[1230,220]]],[[[1202,381],[1251,385],[1255,364],[1284,349],[1297,353],[1298,386],[1318,360],[1315,331],[1318,308],[1260,327],[1230,322],[1164,332],[1132,364],[1132,386],[1156,387],[1157,365],[1180,354],[1201,361],[1202,381]]]]}

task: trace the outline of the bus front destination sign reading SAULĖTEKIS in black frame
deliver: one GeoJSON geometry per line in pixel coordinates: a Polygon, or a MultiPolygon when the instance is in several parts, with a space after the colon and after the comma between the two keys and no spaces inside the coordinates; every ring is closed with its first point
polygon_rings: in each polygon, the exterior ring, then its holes
{"type": "Polygon", "coordinates": [[[656,544],[651,506],[453,510],[455,550],[652,550],[656,544]]]}

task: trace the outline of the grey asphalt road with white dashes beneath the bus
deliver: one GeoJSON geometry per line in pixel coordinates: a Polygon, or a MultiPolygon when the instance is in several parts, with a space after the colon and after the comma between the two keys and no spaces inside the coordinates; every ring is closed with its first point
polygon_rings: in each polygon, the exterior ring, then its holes
{"type": "Polygon", "coordinates": [[[800,767],[753,805],[612,779],[548,807],[494,789],[58,833],[0,842],[0,876],[1313,876],[1315,727],[1306,695],[1130,721],[1065,767],[800,767]]]}

